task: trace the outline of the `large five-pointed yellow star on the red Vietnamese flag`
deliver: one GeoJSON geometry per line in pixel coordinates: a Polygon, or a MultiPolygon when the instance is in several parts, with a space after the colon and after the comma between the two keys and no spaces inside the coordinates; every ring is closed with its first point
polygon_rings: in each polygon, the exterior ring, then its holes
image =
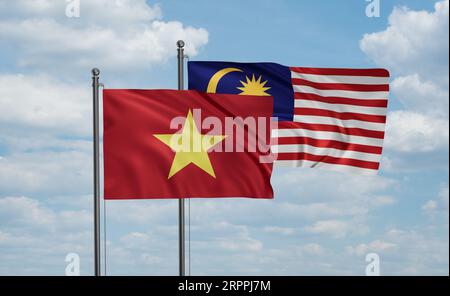
{"type": "Polygon", "coordinates": [[[208,150],[225,139],[225,135],[202,135],[195,124],[191,110],[189,110],[180,134],[154,135],[158,140],[169,146],[175,157],[170,167],[169,177],[193,163],[212,177],[216,177],[209,160],[208,150]]]}

